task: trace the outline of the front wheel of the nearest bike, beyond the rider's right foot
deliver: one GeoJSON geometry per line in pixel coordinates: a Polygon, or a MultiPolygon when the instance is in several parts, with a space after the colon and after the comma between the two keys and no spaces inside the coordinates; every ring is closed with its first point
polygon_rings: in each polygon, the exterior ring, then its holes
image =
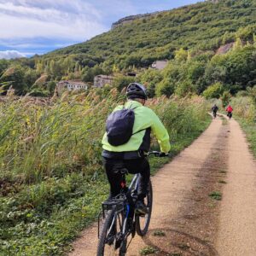
{"type": "Polygon", "coordinates": [[[152,205],[153,205],[153,189],[152,189],[152,183],[150,180],[148,183],[148,192],[145,198],[145,205],[148,208],[148,213],[145,215],[137,214],[135,216],[136,232],[138,236],[146,235],[146,233],[148,232],[148,226],[150,223],[152,205]]]}

